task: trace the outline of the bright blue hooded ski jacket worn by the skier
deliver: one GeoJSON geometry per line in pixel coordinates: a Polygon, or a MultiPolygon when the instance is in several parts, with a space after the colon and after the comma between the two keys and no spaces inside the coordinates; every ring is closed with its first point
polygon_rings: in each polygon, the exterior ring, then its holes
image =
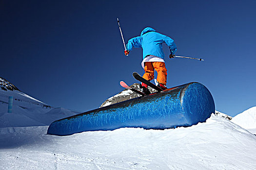
{"type": "Polygon", "coordinates": [[[176,44],[174,40],[169,36],[157,33],[153,28],[145,28],[140,36],[134,37],[128,41],[127,50],[132,51],[133,47],[143,49],[143,59],[147,55],[155,55],[160,58],[164,58],[162,43],[166,43],[171,54],[175,55],[177,51],[176,44]]]}

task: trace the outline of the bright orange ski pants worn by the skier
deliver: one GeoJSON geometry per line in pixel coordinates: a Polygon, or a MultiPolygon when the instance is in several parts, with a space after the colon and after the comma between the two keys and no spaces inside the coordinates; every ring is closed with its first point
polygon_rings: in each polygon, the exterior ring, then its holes
{"type": "Polygon", "coordinates": [[[155,70],[158,72],[157,81],[163,85],[167,83],[167,69],[164,62],[145,62],[145,74],[142,76],[144,79],[151,81],[154,79],[155,70]],[[155,70],[154,70],[155,69],[155,70]]]}

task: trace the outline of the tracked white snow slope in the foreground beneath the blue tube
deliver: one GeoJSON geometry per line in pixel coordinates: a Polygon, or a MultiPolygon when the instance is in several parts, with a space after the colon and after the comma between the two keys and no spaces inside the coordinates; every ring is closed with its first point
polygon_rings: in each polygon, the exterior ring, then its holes
{"type": "Polygon", "coordinates": [[[2,170],[255,170],[256,136],[216,117],[192,127],[71,136],[48,126],[0,128],[2,170]]]}

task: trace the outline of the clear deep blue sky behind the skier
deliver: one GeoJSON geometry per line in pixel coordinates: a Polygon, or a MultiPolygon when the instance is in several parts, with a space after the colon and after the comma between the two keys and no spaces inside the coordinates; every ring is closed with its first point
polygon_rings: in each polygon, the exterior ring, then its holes
{"type": "Polygon", "coordinates": [[[1,0],[0,77],[50,105],[88,111],[143,74],[142,50],[124,39],[145,27],[172,37],[168,87],[199,82],[216,109],[234,116],[256,106],[255,0],[1,0]]]}

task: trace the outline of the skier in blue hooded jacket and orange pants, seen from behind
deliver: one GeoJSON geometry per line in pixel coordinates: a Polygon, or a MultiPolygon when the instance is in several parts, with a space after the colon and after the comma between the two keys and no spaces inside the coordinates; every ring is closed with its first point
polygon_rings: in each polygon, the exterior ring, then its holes
{"type": "MultiPolygon", "coordinates": [[[[142,77],[148,81],[153,80],[155,69],[158,72],[158,86],[162,89],[166,89],[167,69],[164,62],[163,42],[170,48],[170,58],[174,58],[175,52],[177,51],[174,40],[166,35],[157,33],[156,30],[150,27],[145,28],[140,36],[131,38],[128,41],[127,50],[124,51],[124,54],[128,55],[133,47],[142,48],[143,61],[141,62],[141,66],[145,70],[142,77]]],[[[150,94],[148,85],[141,83],[141,88],[143,93],[150,94]]]]}

